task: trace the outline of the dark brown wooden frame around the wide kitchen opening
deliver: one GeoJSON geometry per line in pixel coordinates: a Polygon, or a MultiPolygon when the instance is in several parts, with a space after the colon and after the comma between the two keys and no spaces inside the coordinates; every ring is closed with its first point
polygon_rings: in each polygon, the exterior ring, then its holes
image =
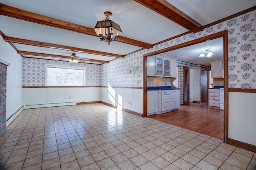
{"type": "Polygon", "coordinates": [[[194,39],[185,43],[160,49],[151,53],[144,54],[142,57],[143,70],[143,110],[142,117],[147,117],[147,58],[148,56],[165,53],[168,51],[180,49],[190,45],[202,43],[208,40],[223,38],[223,62],[224,62],[224,143],[228,143],[228,30],[220,31],[212,35],[207,35],[198,39],[194,39]]]}

